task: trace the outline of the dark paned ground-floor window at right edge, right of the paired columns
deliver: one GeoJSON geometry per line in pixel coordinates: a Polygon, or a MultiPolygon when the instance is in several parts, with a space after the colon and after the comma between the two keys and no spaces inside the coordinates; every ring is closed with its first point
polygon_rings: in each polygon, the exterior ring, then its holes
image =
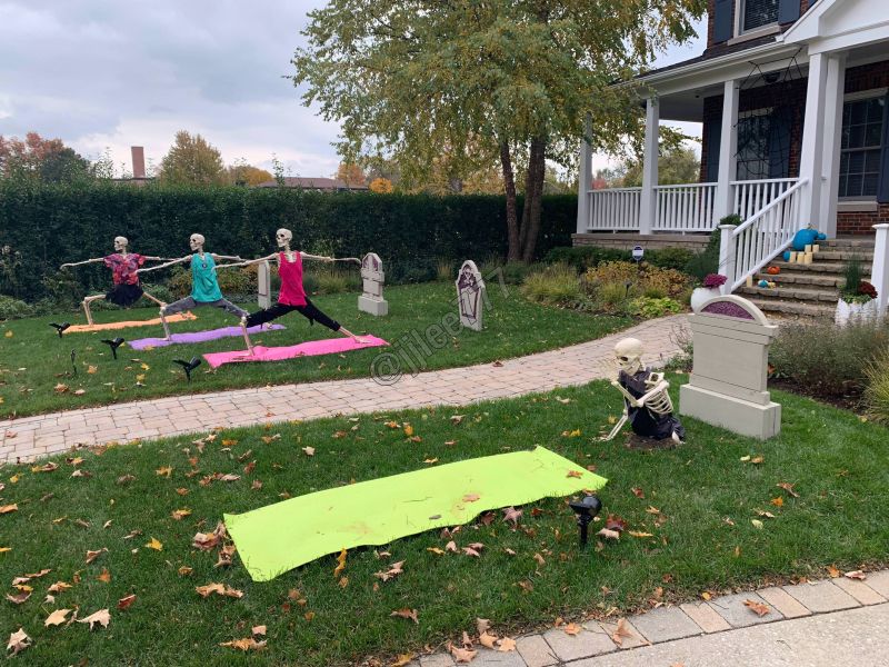
{"type": "Polygon", "coordinates": [[[880,180],[886,98],[846,102],[840,142],[841,198],[873,198],[880,180]]]}

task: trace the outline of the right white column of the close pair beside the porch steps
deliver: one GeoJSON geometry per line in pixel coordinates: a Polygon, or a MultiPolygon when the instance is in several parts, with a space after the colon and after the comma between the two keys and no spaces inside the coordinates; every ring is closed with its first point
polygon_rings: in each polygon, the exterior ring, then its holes
{"type": "Polygon", "coordinates": [[[842,139],[842,100],[846,91],[846,53],[831,56],[827,61],[825,93],[825,146],[821,171],[821,231],[828,238],[837,236],[837,197],[840,180],[840,140],[842,139]]]}

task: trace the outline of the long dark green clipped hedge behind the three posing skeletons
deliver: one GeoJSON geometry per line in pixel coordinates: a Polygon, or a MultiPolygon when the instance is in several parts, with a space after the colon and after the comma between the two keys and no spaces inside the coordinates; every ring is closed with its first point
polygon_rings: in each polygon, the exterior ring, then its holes
{"type": "MultiPolygon", "coordinates": [[[[575,196],[543,198],[539,256],[570,245],[576,217],[575,196]]],[[[291,229],[301,249],[377,252],[390,282],[433,278],[438,260],[482,261],[507,249],[505,199],[496,196],[0,181],[0,246],[21,253],[19,269],[0,258],[0,292],[33,301],[107,289],[101,265],[73,276],[58,267],[112,252],[120,235],[136,252],[182,257],[188,237],[200,232],[207,250],[251,258],[273,251],[279,227],[291,229]]]]}

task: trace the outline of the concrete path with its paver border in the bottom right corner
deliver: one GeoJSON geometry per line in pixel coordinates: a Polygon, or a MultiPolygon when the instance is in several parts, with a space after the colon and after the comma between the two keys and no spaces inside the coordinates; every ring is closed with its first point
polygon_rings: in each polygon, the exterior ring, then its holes
{"type": "MultiPolygon", "coordinates": [[[[840,577],[770,587],[678,607],[658,607],[631,616],[625,619],[620,645],[613,639],[618,619],[589,621],[577,635],[552,628],[521,637],[516,651],[479,647],[471,664],[473,667],[886,665],[887,599],[889,570],[869,573],[863,581],[840,577]],[[768,613],[758,616],[745,605],[746,600],[766,605],[768,613]],[[773,625],[766,627],[766,624],[773,625]]],[[[453,667],[456,663],[450,655],[438,653],[410,665],[453,667]]]]}

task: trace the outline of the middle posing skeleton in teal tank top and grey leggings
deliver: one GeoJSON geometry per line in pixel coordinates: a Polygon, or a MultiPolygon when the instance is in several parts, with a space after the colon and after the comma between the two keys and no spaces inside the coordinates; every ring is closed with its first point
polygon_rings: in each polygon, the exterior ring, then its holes
{"type": "Polygon", "coordinates": [[[189,237],[189,245],[191,247],[192,255],[173,259],[167,263],[151,267],[150,269],[139,269],[138,271],[141,273],[143,271],[154,271],[157,269],[163,269],[178,263],[191,263],[191,295],[183,299],[179,299],[178,301],[173,301],[169,306],[162,306],[160,309],[160,320],[163,323],[163,335],[167,340],[170,340],[170,327],[167,323],[166,316],[173,315],[174,312],[182,312],[183,310],[193,310],[200,306],[212,306],[214,308],[221,308],[226,312],[230,312],[240,318],[244,342],[247,344],[247,348],[251,349],[252,345],[250,344],[250,337],[247,335],[246,326],[247,311],[243,308],[239,308],[231,301],[222,298],[222,292],[219,289],[219,281],[217,280],[216,276],[217,259],[239,260],[241,258],[237,256],[232,257],[230,255],[204,252],[204,242],[206,239],[203,236],[199,233],[192,233],[189,237]]]}

